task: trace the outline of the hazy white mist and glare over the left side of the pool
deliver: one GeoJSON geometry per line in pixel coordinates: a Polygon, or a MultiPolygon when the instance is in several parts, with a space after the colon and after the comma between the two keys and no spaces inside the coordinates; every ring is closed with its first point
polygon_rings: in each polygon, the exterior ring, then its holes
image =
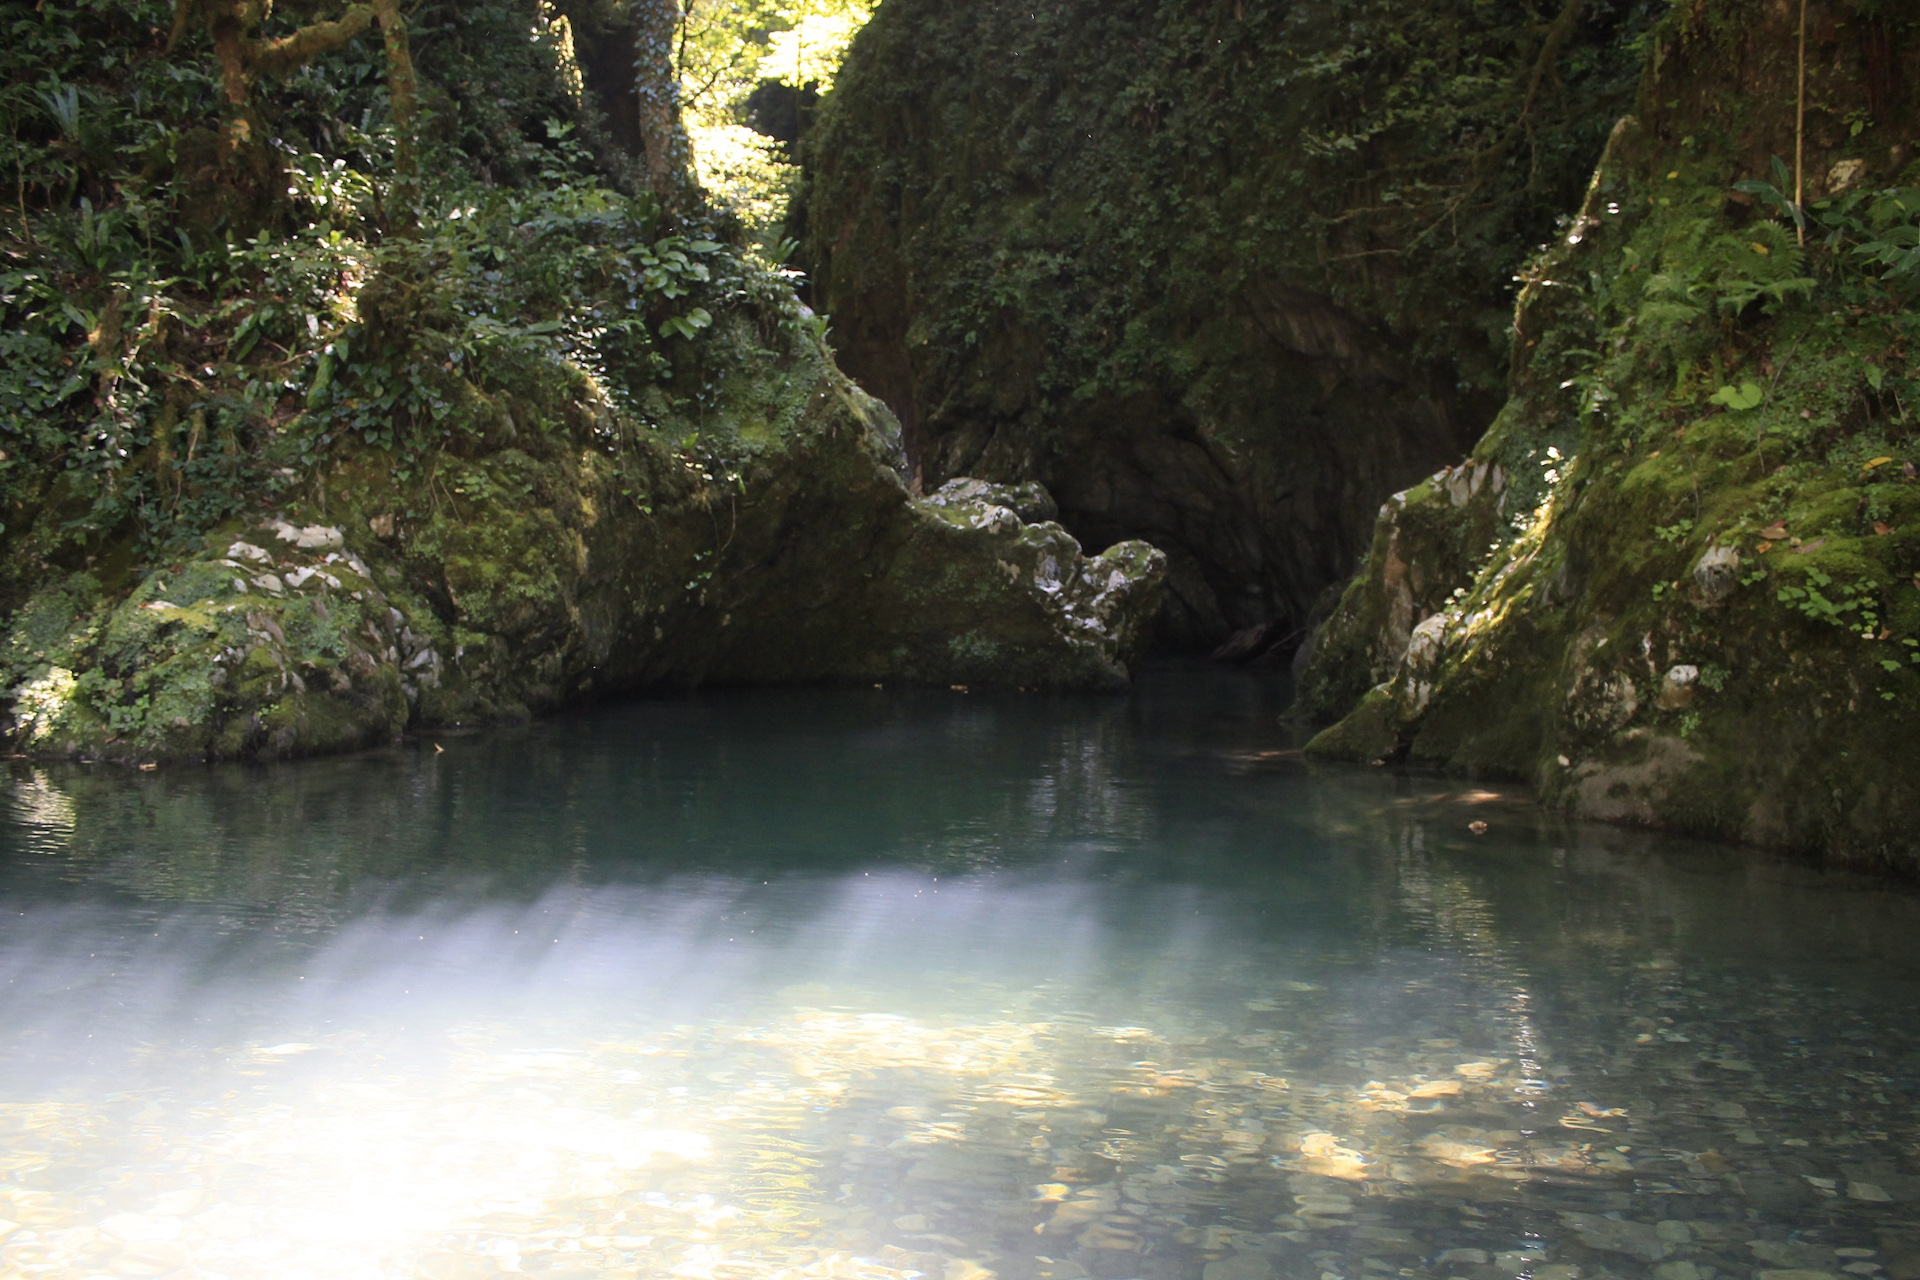
{"type": "Polygon", "coordinates": [[[637,1197],[685,1219],[664,1232],[674,1267],[732,1236],[753,1238],[751,1265],[797,1267],[808,1215],[841,1194],[787,1182],[745,1207],[768,1140],[877,1077],[893,1090],[854,1109],[1008,1079],[1050,1090],[1069,1063],[1048,1019],[1091,1025],[1075,1009],[1116,1002],[1108,952],[1162,988],[1219,961],[1192,892],[1156,894],[1160,919],[1123,935],[1098,898],[881,869],[371,910],[296,942],[223,935],[205,912],[17,915],[0,942],[4,1165],[44,1190],[0,1184],[21,1222],[10,1251],[52,1268],[36,1274],[119,1259],[371,1276],[449,1245],[486,1268],[605,1236],[609,1274],[611,1240],[637,1230],[620,1230],[634,1205],[609,1203],[637,1197]]]}

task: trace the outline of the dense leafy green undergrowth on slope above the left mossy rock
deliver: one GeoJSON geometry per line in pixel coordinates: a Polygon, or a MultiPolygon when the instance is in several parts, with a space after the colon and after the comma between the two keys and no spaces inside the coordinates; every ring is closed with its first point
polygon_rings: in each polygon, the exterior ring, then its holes
{"type": "Polygon", "coordinates": [[[0,597],[44,558],[190,551],[355,449],[417,480],[499,443],[490,397],[582,370],[636,418],[699,416],[726,317],[801,322],[783,276],[616,190],[538,0],[409,15],[430,177],[401,234],[378,36],[263,79],[265,167],[232,173],[211,50],[167,56],[169,17],[0,6],[0,597]]]}

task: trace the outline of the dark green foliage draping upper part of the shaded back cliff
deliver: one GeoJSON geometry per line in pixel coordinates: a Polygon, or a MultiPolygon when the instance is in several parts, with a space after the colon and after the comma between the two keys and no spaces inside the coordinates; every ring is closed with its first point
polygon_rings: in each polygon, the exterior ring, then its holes
{"type": "Polygon", "coordinates": [[[889,4],[822,107],[812,265],[856,292],[899,255],[922,359],[1037,363],[1043,413],[1179,397],[1238,359],[1213,320],[1284,288],[1492,391],[1519,248],[1576,200],[1655,8],[1555,35],[1524,4],[889,4]]]}

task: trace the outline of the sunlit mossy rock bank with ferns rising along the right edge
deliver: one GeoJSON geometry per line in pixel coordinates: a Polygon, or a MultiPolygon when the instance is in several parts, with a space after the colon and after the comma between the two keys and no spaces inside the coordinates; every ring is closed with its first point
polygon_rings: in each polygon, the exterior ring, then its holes
{"type": "Polygon", "coordinates": [[[1653,33],[1524,273],[1509,403],[1313,643],[1313,754],[1920,869],[1920,23],[1811,0],[1801,115],[1801,21],[1653,33]]]}

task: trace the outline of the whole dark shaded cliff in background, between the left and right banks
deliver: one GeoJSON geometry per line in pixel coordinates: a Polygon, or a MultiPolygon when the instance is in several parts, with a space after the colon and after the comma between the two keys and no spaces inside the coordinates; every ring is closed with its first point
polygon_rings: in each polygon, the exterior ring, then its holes
{"type": "Polygon", "coordinates": [[[1657,10],[887,0],[804,148],[812,303],[924,486],[1165,549],[1171,645],[1296,631],[1498,411],[1657,10]]]}

